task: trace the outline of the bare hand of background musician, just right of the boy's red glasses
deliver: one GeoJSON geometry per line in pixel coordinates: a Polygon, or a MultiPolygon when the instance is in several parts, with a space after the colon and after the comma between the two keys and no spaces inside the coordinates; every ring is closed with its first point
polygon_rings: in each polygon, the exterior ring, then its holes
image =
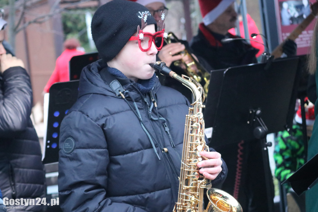
{"type": "Polygon", "coordinates": [[[173,61],[182,59],[182,55],[177,53],[182,52],[184,49],[185,46],[181,43],[169,43],[162,47],[158,53],[158,57],[169,67],[173,61]]]}

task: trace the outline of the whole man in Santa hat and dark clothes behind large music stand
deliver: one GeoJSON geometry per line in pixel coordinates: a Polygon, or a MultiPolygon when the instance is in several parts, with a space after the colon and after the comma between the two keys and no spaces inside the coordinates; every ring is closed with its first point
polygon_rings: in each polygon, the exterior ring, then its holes
{"type": "MultiPolygon", "coordinates": [[[[256,54],[259,50],[228,32],[237,23],[234,2],[199,0],[203,23],[200,23],[198,34],[191,40],[190,46],[196,55],[203,57],[214,69],[257,63],[256,54]],[[228,38],[233,40],[223,42],[223,39],[228,38]]],[[[288,56],[295,55],[295,42],[286,42],[283,50],[288,56]]],[[[264,168],[261,142],[251,139],[211,145],[215,145],[229,169],[221,189],[237,198],[245,212],[270,211],[266,200],[273,200],[274,194],[267,196],[266,193],[265,176],[271,172],[264,168]],[[259,173],[258,176],[255,173],[259,173]]],[[[268,186],[273,188],[273,183],[268,186]]]]}

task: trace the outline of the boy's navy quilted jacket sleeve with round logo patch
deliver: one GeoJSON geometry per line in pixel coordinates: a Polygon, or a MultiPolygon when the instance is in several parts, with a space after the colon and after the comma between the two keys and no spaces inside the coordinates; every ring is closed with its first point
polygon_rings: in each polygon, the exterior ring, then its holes
{"type": "Polygon", "coordinates": [[[108,164],[107,142],[100,126],[79,111],[66,115],[59,140],[58,186],[63,211],[145,212],[107,197],[107,184],[111,183],[107,181],[108,164]]]}

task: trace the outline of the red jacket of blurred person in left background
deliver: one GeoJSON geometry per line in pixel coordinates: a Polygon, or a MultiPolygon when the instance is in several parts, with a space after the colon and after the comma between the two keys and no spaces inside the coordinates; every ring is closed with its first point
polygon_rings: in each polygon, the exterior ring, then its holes
{"type": "Polygon", "coordinates": [[[70,80],[69,61],[73,56],[82,55],[85,52],[76,49],[65,49],[64,52],[56,59],[55,69],[44,87],[44,92],[48,93],[55,82],[65,82],[70,80]]]}

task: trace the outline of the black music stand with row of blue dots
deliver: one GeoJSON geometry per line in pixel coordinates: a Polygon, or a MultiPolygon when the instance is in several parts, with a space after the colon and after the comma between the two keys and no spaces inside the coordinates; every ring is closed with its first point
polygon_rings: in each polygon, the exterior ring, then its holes
{"type": "Polygon", "coordinates": [[[54,83],[49,91],[49,108],[43,163],[59,161],[59,128],[67,111],[77,100],[79,81],[54,83]]]}

